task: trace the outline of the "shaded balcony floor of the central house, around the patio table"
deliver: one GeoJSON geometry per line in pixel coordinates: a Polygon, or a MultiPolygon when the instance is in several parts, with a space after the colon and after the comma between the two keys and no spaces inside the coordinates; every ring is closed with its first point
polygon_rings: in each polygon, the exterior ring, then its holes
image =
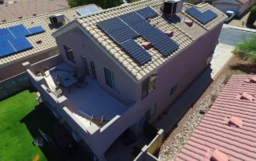
{"type": "MultiPolygon", "coordinates": [[[[65,63],[56,65],[47,71],[45,77],[46,83],[54,88],[56,77],[72,74],[72,69],[65,63]],[[48,80],[48,81],[47,81],[48,80]]],[[[86,127],[90,126],[90,117],[101,119],[104,116],[106,121],[114,118],[114,116],[122,115],[129,108],[119,100],[110,96],[103,90],[98,82],[90,77],[86,77],[86,86],[78,88],[75,84],[69,88],[62,88],[63,95],[66,96],[70,104],[70,111],[78,118],[86,127]]]]}

